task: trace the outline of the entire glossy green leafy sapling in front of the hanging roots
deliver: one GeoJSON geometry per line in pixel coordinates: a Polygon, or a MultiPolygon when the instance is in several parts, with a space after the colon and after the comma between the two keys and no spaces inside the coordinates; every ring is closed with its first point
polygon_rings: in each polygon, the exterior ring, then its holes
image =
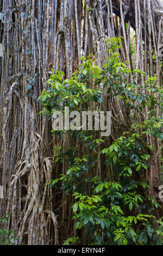
{"type": "MultiPolygon", "coordinates": [[[[155,138],[163,138],[162,117],[155,115],[156,95],[158,92],[162,94],[162,88],[156,86],[155,76],[147,75],[145,87],[134,82],[137,74],[145,74],[141,70],[131,71],[127,63],[121,62],[118,53],[121,41],[122,38],[108,39],[110,58],[102,69],[93,65],[90,54],[88,58],[82,57],[79,70],[69,80],[64,80],[63,72],[54,74],[52,70],[47,81],[49,88],[39,97],[45,114],[51,117],[55,110],[64,111],[65,106],[99,109],[103,90],[98,87],[103,84],[108,94],[121,99],[121,109],[130,121],[128,126],[123,124],[127,131],[108,148],[105,147],[108,138],[102,139],[98,132],[66,131],[85,153],[78,152],[77,147],[56,147],[55,162],[66,162],[69,168],[48,184],[74,197],[75,228],[85,229],[92,245],[162,245],[163,222],[152,214],[152,210],[160,205],[147,196],[148,184],[141,176],[149,168],[149,150],[155,151],[147,145],[146,136],[151,133],[155,138]],[[140,116],[145,107],[150,111],[142,121],[140,116]],[[106,173],[110,167],[113,169],[114,180],[106,178],[102,181],[92,175],[99,151],[105,160],[106,173]],[[154,228],[154,223],[158,228],[154,228]]],[[[63,138],[64,131],[54,132],[63,138]]],[[[70,237],[64,244],[77,240],[78,237],[70,237]]]]}

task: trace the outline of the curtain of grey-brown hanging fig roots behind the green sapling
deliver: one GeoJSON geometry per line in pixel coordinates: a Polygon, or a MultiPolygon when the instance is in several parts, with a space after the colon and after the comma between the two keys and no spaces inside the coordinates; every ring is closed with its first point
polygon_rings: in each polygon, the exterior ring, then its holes
{"type": "MultiPolygon", "coordinates": [[[[121,59],[131,61],[128,22],[136,32],[136,68],[156,74],[160,84],[162,21],[163,7],[158,0],[85,0],[84,7],[82,0],[1,0],[1,215],[11,212],[8,227],[16,231],[19,244],[58,245],[70,234],[76,235],[70,214],[72,199],[46,185],[66,168],[53,166],[51,121],[38,115],[41,106],[36,100],[46,88],[48,71],[54,68],[70,77],[79,57],[89,53],[102,66],[108,56],[107,36],[123,36],[121,59]]],[[[132,62],[128,65],[133,68],[132,62]]],[[[128,126],[119,104],[111,94],[105,99],[105,109],[112,109],[112,116],[128,126]]],[[[112,136],[115,139],[118,134],[112,136]]],[[[156,148],[146,175],[149,195],[155,197],[154,188],[160,184],[160,145],[150,135],[148,144],[156,148]]],[[[98,175],[105,175],[101,162],[98,175]]]]}

